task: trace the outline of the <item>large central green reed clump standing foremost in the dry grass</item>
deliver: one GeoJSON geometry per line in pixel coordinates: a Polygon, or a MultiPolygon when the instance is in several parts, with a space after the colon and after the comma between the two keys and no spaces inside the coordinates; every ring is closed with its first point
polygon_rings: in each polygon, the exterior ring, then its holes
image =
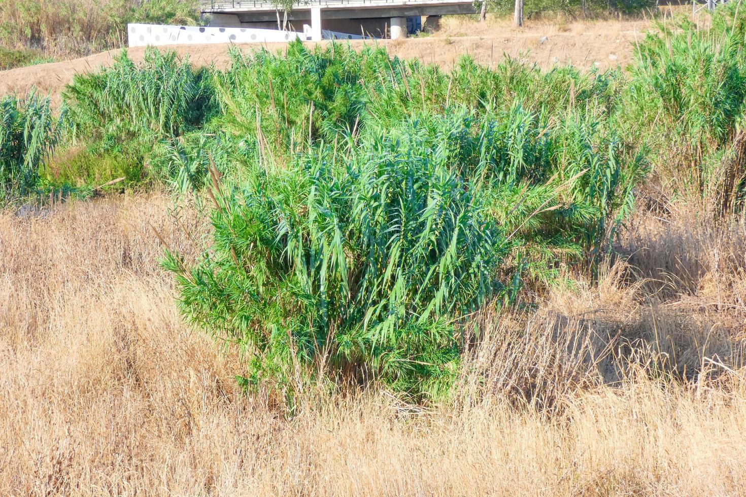
{"type": "Polygon", "coordinates": [[[239,344],[249,384],[376,380],[413,396],[448,391],[467,314],[515,299],[523,271],[548,282],[562,253],[600,247],[643,173],[594,123],[548,127],[518,104],[422,113],[245,168],[232,188],[213,173],[204,259],[166,259],[182,312],[239,344]]]}

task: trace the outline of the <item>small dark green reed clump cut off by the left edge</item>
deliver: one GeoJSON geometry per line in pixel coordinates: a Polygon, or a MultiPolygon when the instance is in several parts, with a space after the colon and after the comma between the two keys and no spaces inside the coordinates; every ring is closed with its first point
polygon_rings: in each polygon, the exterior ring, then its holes
{"type": "Polygon", "coordinates": [[[33,191],[59,133],[48,98],[31,94],[25,100],[0,100],[0,206],[33,191]]]}

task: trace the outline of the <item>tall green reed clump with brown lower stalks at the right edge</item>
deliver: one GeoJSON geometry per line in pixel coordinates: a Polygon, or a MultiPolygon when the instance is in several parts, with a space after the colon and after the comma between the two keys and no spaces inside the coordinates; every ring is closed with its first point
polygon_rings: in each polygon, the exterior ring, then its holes
{"type": "Polygon", "coordinates": [[[740,208],[746,179],[746,11],[733,3],[709,29],[688,19],[659,25],[638,45],[627,95],[630,135],[656,151],[659,176],[715,212],[740,208]]]}

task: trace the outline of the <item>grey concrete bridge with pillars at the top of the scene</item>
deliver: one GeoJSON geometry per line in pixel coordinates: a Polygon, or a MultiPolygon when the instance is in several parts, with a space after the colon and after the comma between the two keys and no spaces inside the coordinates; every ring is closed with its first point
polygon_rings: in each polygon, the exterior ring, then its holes
{"type": "MultiPolygon", "coordinates": [[[[200,5],[212,27],[277,29],[278,15],[283,19],[272,1],[201,0],[200,5]]],[[[322,39],[322,29],[395,39],[414,31],[412,25],[423,17],[426,28],[436,28],[440,16],[474,12],[471,0],[301,0],[287,13],[287,29],[309,25],[313,39],[322,39]]]]}

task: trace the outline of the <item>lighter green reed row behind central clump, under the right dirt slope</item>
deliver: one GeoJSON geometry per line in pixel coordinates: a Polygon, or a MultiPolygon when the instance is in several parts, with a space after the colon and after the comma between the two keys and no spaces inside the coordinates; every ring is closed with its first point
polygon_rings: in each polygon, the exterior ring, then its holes
{"type": "Polygon", "coordinates": [[[480,115],[488,110],[509,110],[518,101],[533,112],[558,117],[571,109],[604,110],[618,104],[618,89],[624,84],[619,71],[580,72],[557,67],[548,72],[538,66],[505,57],[495,67],[481,66],[472,57],[461,57],[451,72],[419,61],[393,59],[392,77],[378,77],[369,84],[367,120],[392,123],[404,115],[438,110],[453,105],[480,115]]]}

